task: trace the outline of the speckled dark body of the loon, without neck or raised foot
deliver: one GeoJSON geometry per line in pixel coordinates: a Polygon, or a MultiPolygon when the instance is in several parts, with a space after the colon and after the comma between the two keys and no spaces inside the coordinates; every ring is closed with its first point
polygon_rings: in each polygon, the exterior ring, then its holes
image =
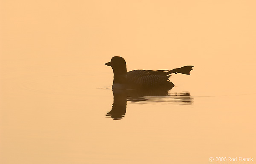
{"type": "Polygon", "coordinates": [[[173,83],[168,80],[169,76],[166,76],[166,72],[163,70],[134,70],[127,72],[128,85],[137,88],[156,88],[156,87],[173,87],[173,83]]]}

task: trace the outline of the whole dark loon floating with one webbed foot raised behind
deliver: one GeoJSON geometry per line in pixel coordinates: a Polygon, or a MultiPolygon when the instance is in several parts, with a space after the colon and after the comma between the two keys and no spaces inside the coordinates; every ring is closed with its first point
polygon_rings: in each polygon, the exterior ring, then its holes
{"type": "Polygon", "coordinates": [[[114,56],[110,62],[105,63],[111,66],[114,73],[112,89],[172,89],[174,84],[169,80],[169,74],[182,73],[190,75],[194,66],[183,66],[168,70],[143,70],[137,69],[127,72],[125,59],[114,56]],[[165,72],[167,71],[167,72],[165,72]]]}

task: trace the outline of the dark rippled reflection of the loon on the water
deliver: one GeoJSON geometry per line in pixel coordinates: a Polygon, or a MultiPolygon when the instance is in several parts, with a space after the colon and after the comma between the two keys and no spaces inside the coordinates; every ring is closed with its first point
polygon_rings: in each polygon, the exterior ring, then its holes
{"type": "Polygon", "coordinates": [[[106,117],[111,117],[114,120],[125,117],[127,101],[136,104],[166,102],[177,105],[190,105],[193,103],[193,98],[189,92],[172,93],[165,89],[112,89],[112,91],[113,106],[111,111],[107,112],[106,117]]]}

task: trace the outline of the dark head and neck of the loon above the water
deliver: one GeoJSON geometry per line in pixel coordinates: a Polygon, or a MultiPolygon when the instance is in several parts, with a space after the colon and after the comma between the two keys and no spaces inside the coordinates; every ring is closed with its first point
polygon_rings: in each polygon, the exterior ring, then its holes
{"type": "Polygon", "coordinates": [[[120,56],[114,56],[110,62],[105,63],[107,66],[111,66],[114,73],[114,80],[113,80],[113,86],[112,88],[115,88],[115,86],[118,86],[117,88],[123,88],[125,87],[127,76],[126,76],[126,62],[125,59],[120,56]]]}

